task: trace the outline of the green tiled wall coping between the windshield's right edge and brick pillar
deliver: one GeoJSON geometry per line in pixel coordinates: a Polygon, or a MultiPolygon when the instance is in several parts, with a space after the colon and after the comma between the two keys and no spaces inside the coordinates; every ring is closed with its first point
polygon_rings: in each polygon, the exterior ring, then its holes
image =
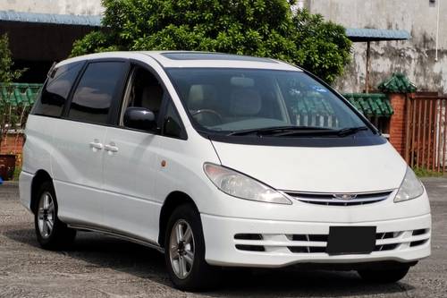
{"type": "Polygon", "coordinates": [[[390,98],[382,93],[348,93],[343,96],[366,116],[390,117],[394,111],[390,98]]]}

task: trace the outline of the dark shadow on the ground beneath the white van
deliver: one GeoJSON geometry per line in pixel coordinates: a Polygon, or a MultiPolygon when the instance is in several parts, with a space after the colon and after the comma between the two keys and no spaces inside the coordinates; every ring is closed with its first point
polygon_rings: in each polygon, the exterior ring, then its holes
{"type": "MultiPolygon", "coordinates": [[[[9,230],[4,235],[13,241],[38,248],[31,229],[9,230]]],[[[53,253],[53,252],[52,252],[53,253]]],[[[145,246],[103,234],[80,232],[64,255],[85,261],[90,268],[110,268],[161,285],[172,286],[164,268],[164,256],[145,246]]],[[[399,294],[413,290],[405,282],[375,285],[363,282],[353,271],[307,270],[298,267],[281,269],[230,268],[223,271],[221,285],[206,294],[213,297],[290,297],[352,296],[399,294]]]]}

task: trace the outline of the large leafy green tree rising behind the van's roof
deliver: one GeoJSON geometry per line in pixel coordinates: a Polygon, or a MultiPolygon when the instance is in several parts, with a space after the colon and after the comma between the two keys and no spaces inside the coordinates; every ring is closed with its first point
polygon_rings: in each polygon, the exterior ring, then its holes
{"type": "Polygon", "coordinates": [[[268,56],[332,82],[350,61],[340,25],[286,0],[103,0],[104,30],[72,55],[108,50],[197,50],[268,56]]]}

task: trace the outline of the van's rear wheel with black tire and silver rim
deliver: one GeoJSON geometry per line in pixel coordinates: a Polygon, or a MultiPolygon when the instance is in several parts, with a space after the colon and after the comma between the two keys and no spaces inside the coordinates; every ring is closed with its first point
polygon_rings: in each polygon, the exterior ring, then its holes
{"type": "Polygon", "coordinates": [[[46,181],[37,193],[37,208],[34,212],[34,227],[40,246],[46,250],[60,250],[69,247],[75,236],[73,230],[57,217],[57,200],[53,183],[46,181]]]}

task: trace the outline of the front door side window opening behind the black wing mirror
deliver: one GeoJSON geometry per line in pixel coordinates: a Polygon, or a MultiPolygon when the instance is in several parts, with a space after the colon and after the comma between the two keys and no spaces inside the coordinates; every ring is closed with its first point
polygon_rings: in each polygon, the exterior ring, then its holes
{"type": "MultiPolygon", "coordinates": [[[[164,89],[156,77],[151,72],[136,66],[126,89],[122,116],[127,107],[145,107],[156,115],[158,122],[163,98],[164,89]]],[[[122,125],[122,117],[120,124],[122,125]]]]}

